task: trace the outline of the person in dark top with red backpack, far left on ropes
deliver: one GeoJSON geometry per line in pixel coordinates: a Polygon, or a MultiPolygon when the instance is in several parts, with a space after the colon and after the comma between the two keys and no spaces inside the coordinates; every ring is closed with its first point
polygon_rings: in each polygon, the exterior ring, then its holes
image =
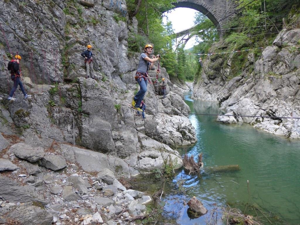
{"type": "Polygon", "coordinates": [[[27,95],[23,83],[21,81],[21,71],[19,69],[19,63],[22,57],[20,55],[15,55],[14,59],[8,62],[7,70],[10,70],[10,78],[13,80],[13,88],[9,92],[8,100],[14,101],[16,98],[13,98],[18,85],[20,86],[21,91],[23,92],[24,98],[29,98],[31,95],[27,95]]]}

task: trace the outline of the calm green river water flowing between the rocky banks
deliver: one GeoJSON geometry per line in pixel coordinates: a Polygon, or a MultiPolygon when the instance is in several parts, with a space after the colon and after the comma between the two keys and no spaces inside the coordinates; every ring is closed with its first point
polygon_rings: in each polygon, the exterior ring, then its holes
{"type": "MultiPolygon", "coordinates": [[[[223,114],[215,102],[190,99],[191,113],[223,114]]],[[[263,224],[300,224],[300,140],[291,140],[238,123],[216,122],[217,116],[190,115],[197,143],[184,154],[203,153],[205,167],[238,164],[235,172],[187,175],[182,170],[166,191],[164,215],[178,224],[222,224],[217,206],[230,205],[259,216],[263,224]],[[247,180],[249,183],[247,184],[247,180]],[[179,191],[181,190],[181,191],[179,191]],[[191,219],[183,201],[196,196],[208,209],[205,216],[191,219]],[[213,215],[212,210],[216,209],[213,215]],[[215,223],[211,220],[215,219],[215,223]]]]}

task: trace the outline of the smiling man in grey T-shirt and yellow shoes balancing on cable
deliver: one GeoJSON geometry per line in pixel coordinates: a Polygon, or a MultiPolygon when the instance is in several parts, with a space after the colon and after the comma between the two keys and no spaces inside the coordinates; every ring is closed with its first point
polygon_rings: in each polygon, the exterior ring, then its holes
{"type": "Polygon", "coordinates": [[[144,52],[140,55],[139,65],[137,67],[137,73],[135,75],[135,80],[140,85],[140,90],[137,92],[135,96],[132,97],[131,105],[134,110],[143,111],[140,108],[141,102],[144,98],[144,95],[147,91],[147,77],[149,68],[152,69],[154,62],[159,59],[159,55],[154,56],[153,58],[149,58],[152,53],[153,47],[151,44],[147,44],[144,48],[144,52]]]}

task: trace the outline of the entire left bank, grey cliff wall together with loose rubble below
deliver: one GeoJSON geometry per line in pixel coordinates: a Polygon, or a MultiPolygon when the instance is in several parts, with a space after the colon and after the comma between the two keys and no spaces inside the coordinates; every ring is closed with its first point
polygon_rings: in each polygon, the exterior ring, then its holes
{"type": "Polygon", "coordinates": [[[142,121],[128,106],[139,90],[140,53],[128,55],[137,19],[122,21],[128,19],[125,0],[23,3],[3,1],[0,8],[0,53],[6,64],[9,52],[22,56],[24,85],[32,94],[27,101],[16,90],[17,100],[9,103],[12,81],[6,65],[0,70],[0,167],[14,170],[0,176],[0,223],[130,224],[124,217],[143,216],[151,197],[127,192],[117,178],[166,164],[179,168],[174,149],[196,142],[182,114],[190,110],[184,85],[173,85],[161,68],[159,78],[169,80],[167,98],[149,83],[142,121]],[[96,79],[84,78],[80,53],[87,44],[96,79]]]}

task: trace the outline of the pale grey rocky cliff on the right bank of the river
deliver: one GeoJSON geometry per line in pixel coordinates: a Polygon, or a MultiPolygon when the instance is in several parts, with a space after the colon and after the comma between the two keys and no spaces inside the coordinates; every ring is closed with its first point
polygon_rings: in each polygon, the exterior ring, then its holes
{"type": "MultiPolygon", "coordinates": [[[[241,75],[229,81],[230,68],[220,65],[231,65],[232,54],[228,58],[208,56],[201,79],[194,82],[193,98],[218,101],[226,113],[236,115],[221,116],[218,118],[220,122],[242,121],[273,134],[300,138],[299,119],[276,118],[300,117],[299,40],[300,29],[283,29],[273,45],[263,49],[261,57],[256,59],[253,53],[249,53],[241,75]]],[[[222,43],[217,46],[222,46],[222,43]]]]}

